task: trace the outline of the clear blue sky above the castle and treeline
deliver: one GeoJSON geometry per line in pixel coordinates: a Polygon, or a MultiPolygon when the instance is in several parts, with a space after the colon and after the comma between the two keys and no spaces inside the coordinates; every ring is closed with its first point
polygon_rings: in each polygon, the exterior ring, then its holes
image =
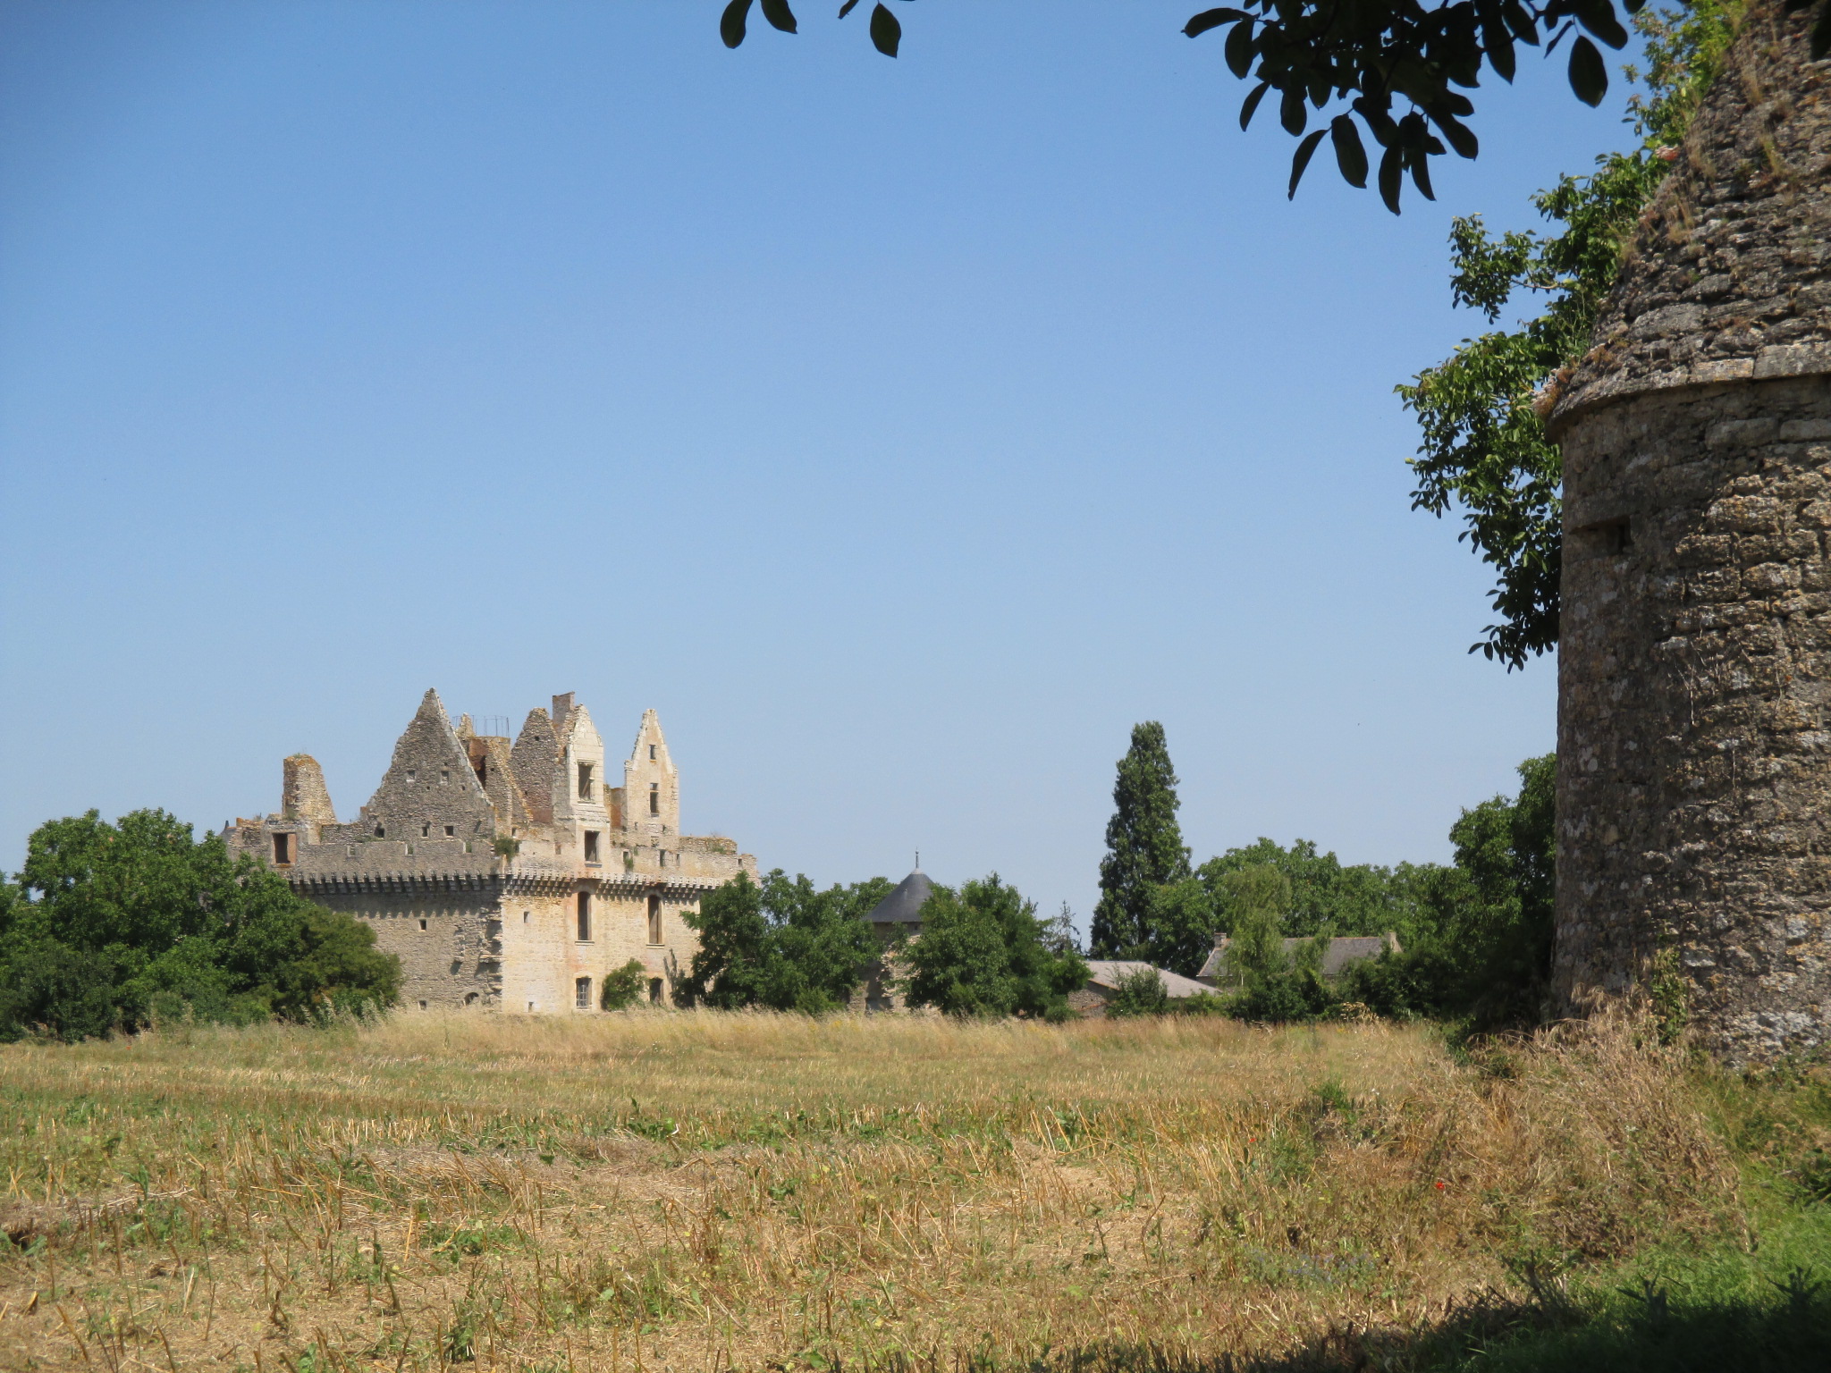
{"type": "Polygon", "coordinates": [[[1624,143],[1560,66],[1392,218],[1241,134],[1188,0],[936,0],[905,51],[716,0],[0,4],[0,864],[341,813],[427,686],[645,707],[688,831],[1082,921],[1163,719],[1197,860],[1446,857],[1555,743],[1465,650],[1392,386],[1452,214],[1624,143]]]}

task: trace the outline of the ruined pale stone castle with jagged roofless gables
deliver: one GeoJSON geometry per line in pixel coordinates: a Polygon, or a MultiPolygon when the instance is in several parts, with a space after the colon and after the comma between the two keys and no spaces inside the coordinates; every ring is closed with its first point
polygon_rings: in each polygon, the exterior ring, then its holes
{"type": "Polygon", "coordinates": [[[280,813],[223,829],[308,901],[361,917],[401,957],[401,1000],[515,1012],[597,1011],[632,957],[672,1001],[698,948],[681,921],[756,859],[679,831],[679,773],[654,710],[612,787],[571,692],[520,738],[456,729],[427,692],[375,795],[339,824],[309,754],[282,763],[280,813]]]}

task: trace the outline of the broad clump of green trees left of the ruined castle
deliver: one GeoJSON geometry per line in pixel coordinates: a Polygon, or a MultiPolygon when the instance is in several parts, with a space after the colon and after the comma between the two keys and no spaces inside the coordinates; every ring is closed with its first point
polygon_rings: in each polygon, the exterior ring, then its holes
{"type": "Polygon", "coordinates": [[[0,1036],[66,1040],[154,1018],[320,1020],[392,1005],[366,924],[293,895],[165,811],[51,820],[0,897],[0,1036]]]}

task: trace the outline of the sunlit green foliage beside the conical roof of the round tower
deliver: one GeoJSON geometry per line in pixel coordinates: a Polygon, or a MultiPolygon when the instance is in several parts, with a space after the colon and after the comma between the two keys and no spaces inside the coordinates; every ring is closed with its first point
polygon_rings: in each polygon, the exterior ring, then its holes
{"type": "MultiPolygon", "coordinates": [[[[1509,668],[1558,641],[1564,465],[1534,397],[1553,372],[1589,348],[1641,209],[1666,178],[1666,156],[1716,77],[1741,11],[1743,0],[1697,0],[1635,15],[1650,59],[1650,99],[1631,103],[1641,146],[1600,157],[1597,172],[1566,176],[1533,196],[1538,212],[1562,225],[1556,234],[1490,238],[1481,216],[1452,223],[1456,304],[1492,324],[1514,297],[1545,297],[1536,319],[1467,341],[1446,362],[1397,388],[1425,439],[1410,459],[1412,505],[1437,516],[1461,507],[1461,538],[1500,573],[1492,593],[1500,619],[1470,652],[1509,668]]],[[[1573,71],[1575,62],[1573,51],[1573,71]]]]}

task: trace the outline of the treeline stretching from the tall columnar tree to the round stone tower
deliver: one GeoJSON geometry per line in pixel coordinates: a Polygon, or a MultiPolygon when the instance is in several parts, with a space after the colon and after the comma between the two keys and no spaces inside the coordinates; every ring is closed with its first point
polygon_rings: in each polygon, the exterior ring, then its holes
{"type": "MultiPolygon", "coordinates": [[[[1362,1003],[1379,1014],[1496,1027],[1538,1018],[1551,972],[1556,756],[1520,763],[1516,796],[1494,796],[1450,826],[1450,864],[1344,866],[1309,840],[1260,838],[1190,866],[1177,826],[1176,771],[1163,727],[1133,729],[1119,763],[1097,957],[1144,959],[1194,976],[1225,934],[1234,1014],[1296,1020],[1362,1003]],[[1399,935],[1399,954],[1324,979],[1329,935],[1399,935]],[[1309,939],[1285,950],[1285,939],[1309,939]]],[[[1143,981],[1117,1009],[1155,1009],[1143,981]]],[[[1190,1009],[1212,1009],[1197,1003],[1190,1009]]]]}

